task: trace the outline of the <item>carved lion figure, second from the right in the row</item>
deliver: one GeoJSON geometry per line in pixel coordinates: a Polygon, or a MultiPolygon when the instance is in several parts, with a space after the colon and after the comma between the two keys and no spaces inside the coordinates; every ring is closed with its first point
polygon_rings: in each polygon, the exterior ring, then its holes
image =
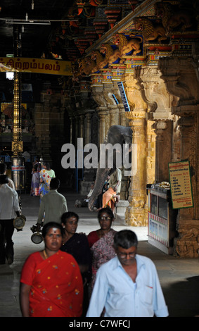
{"type": "Polygon", "coordinates": [[[153,25],[153,23],[146,17],[134,18],[134,25],[136,30],[141,32],[143,39],[146,42],[149,40],[155,40],[157,38],[158,42],[167,39],[164,27],[162,25],[153,25]]]}

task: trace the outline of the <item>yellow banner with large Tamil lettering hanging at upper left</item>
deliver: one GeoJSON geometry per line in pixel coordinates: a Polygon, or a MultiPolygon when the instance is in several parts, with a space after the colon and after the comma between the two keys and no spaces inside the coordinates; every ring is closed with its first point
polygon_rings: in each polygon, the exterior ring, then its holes
{"type": "Polygon", "coordinates": [[[0,72],[2,71],[72,76],[70,61],[46,58],[0,58],[0,72]]]}

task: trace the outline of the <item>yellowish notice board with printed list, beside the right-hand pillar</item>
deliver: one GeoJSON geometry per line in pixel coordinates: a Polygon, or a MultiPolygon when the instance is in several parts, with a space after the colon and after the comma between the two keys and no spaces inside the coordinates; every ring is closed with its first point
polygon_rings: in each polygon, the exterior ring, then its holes
{"type": "Polygon", "coordinates": [[[193,207],[189,161],[169,163],[173,209],[193,207]]]}

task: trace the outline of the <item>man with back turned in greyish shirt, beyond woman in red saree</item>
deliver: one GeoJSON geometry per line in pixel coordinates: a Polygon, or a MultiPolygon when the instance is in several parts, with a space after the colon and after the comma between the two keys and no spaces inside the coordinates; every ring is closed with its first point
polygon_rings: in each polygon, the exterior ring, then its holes
{"type": "Polygon", "coordinates": [[[49,193],[42,196],[41,199],[37,225],[45,225],[49,222],[61,223],[61,216],[68,211],[65,196],[57,191],[59,187],[60,180],[52,178],[49,193]]]}

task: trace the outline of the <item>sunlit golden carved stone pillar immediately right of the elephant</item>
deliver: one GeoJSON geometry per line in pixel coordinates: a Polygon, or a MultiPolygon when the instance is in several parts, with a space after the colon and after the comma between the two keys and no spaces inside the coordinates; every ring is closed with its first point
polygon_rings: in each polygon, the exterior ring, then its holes
{"type": "Polygon", "coordinates": [[[129,207],[125,213],[127,225],[145,226],[146,211],[146,104],[141,98],[139,86],[132,75],[125,77],[126,94],[133,111],[126,112],[133,132],[132,143],[137,147],[136,170],[131,176],[129,207]]]}

